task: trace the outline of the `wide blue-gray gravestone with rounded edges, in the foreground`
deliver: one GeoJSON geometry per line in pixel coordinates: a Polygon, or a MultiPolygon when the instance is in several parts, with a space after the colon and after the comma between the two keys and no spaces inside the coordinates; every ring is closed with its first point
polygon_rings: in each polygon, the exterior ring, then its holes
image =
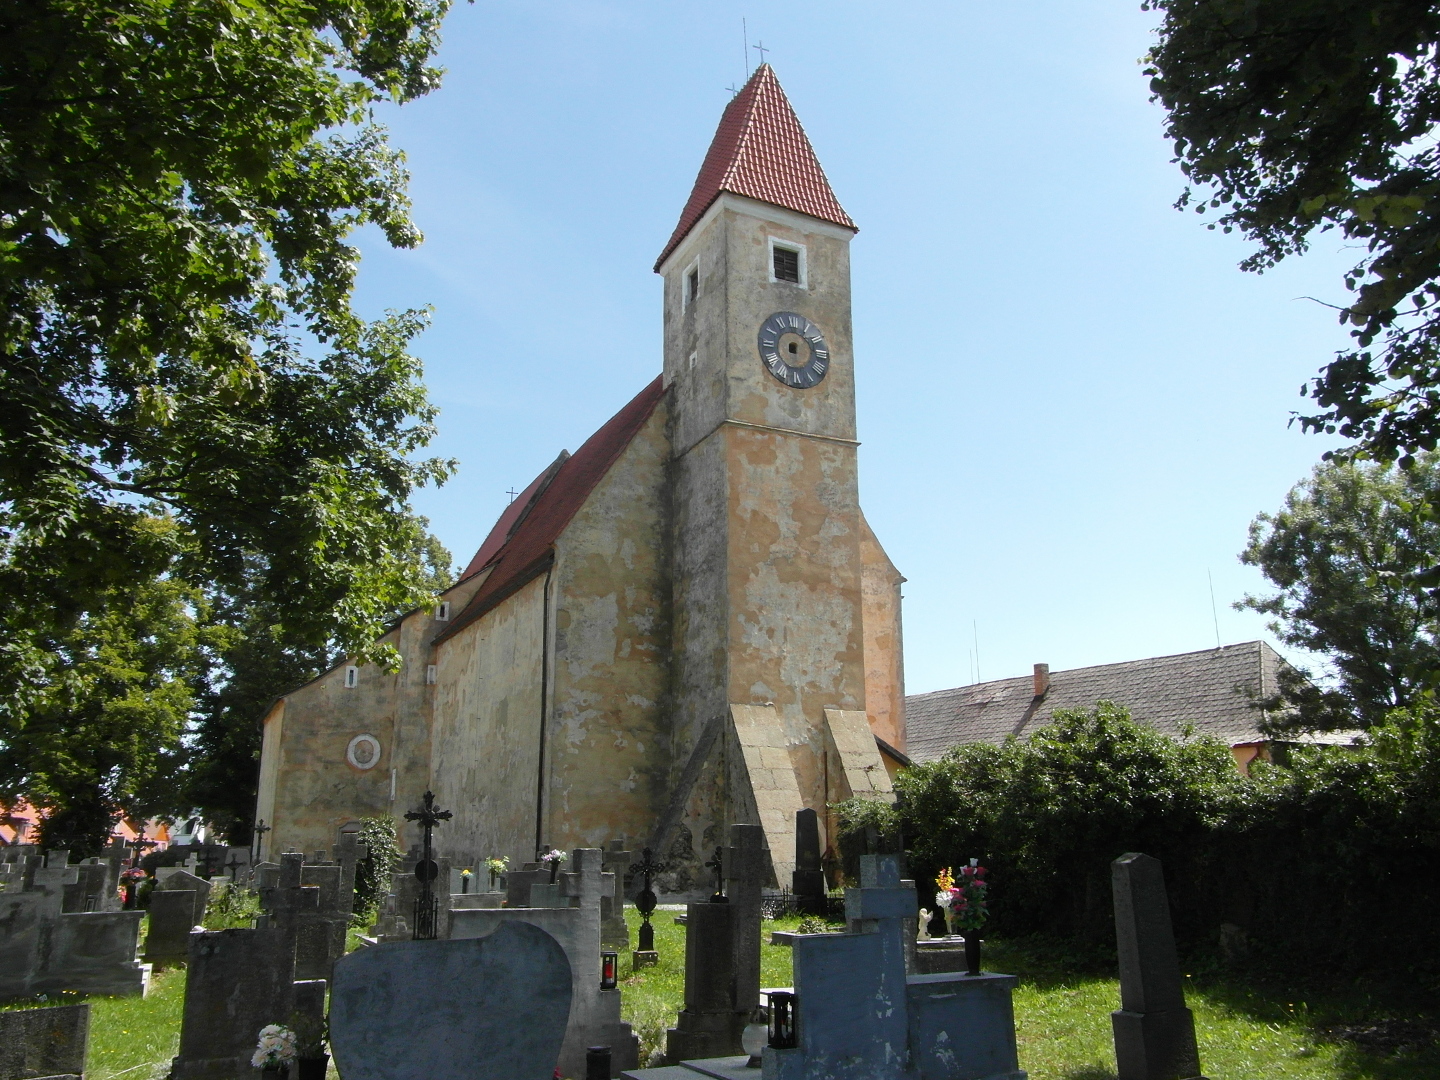
{"type": "Polygon", "coordinates": [[[569,1015],[564,949],[510,922],[340,959],[330,1045],[346,1080],[552,1080],[569,1015]]]}

